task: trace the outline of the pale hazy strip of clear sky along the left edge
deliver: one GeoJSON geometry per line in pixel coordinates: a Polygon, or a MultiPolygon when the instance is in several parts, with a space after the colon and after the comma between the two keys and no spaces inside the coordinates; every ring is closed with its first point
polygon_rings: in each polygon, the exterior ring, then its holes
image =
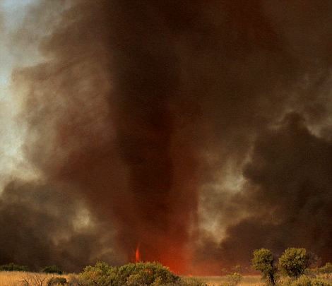
{"type": "Polygon", "coordinates": [[[11,73],[17,66],[31,64],[36,59],[24,47],[16,47],[12,37],[23,24],[30,4],[37,0],[1,0],[0,14],[0,169],[1,186],[4,181],[20,172],[23,177],[33,173],[23,160],[22,144],[25,127],[16,121],[20,110],[20,95],[11,89],[11,73]]]}

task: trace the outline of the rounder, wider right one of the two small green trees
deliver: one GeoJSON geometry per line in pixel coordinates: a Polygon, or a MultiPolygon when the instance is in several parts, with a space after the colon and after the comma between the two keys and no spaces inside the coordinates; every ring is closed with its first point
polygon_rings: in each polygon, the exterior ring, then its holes
{"type": "Polygon", "coordinates": [[[306,249],[286,249],[279,258],[279,267],[283,273],[298,278],[309,266],[309,255],[306,249]]]}

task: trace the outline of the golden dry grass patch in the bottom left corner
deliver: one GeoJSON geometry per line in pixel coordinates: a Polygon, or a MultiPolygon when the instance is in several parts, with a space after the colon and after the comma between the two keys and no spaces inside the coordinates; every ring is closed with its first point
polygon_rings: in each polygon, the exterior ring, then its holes
{"type": "Polygon", "coordinates": [[[27,272],[6,272],[0,271],[0,286],[20,286],[25,278],[32,278],[33,275],[39,275],[40,278],[45,278],[46,282],[51,279],[52,277],[64,277],[66,275],[54,275],[54,274],[46,274],[46,273],[27,273],[27,272]]]}

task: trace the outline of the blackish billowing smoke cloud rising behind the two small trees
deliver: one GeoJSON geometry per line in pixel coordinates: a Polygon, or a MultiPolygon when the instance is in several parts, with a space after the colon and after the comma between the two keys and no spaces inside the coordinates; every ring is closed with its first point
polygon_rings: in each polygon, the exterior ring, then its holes
{"type": "MultiPolygon", "coordinates": [[[[281,254],[301,246],[331,260],[332,141],[314,136],[299,114],[289,114],[275,129],[256,139],[244,167],[247,183],[239,206],[250,214],[227,229],[215,259],[249,263],[252,249],[281,254]]],[[[205,254],[206,255],[206,254],[205,254]]]]}

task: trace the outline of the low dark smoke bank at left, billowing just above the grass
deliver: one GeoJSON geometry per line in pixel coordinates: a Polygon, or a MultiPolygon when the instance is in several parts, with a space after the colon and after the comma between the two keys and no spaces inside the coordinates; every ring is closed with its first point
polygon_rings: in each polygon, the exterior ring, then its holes
{"type": "Polygon", "coordinates": [[[0,201],[0,263],[15,261],[31,270],[56,264],[66,271],[81,270],[100,258],[119,263],[109,225],[89,223],[81,200],[59,189],[24,181],[5,187],[0,201]]]}

